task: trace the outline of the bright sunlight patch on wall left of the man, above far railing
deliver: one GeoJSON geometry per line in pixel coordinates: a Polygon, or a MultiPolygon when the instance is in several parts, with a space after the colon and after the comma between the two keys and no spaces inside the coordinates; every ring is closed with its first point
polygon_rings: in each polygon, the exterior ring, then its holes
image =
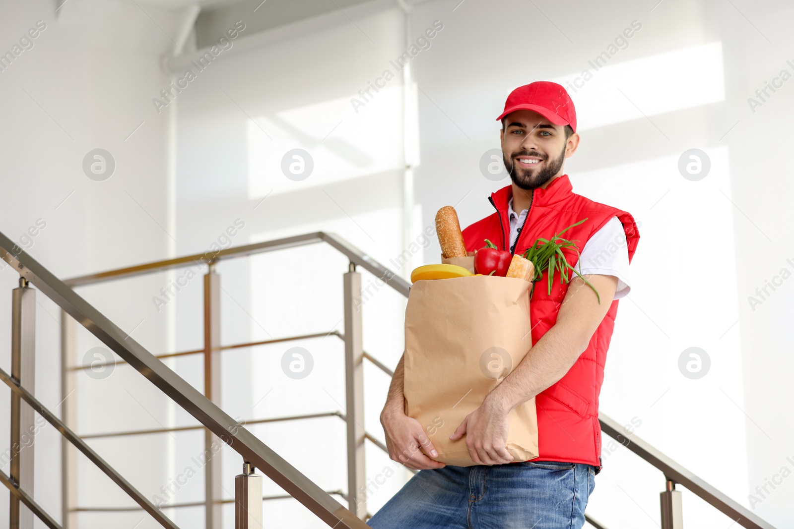
{"type": "Polygon", "coordinates": [[[401,168],[401,94],[399,86],[384,88],[358,113],[345,97],[256,117],[256,123],[249,120],[249,198],[401,168]],[[284,155],[295,148],[309,152],[314,161],[311,174],[298,182],[282,171],[284,155]]]}

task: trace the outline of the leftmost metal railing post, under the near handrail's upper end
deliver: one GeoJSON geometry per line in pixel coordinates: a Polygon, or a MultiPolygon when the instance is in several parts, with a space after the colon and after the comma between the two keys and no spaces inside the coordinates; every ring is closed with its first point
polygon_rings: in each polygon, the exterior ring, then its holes
{"type": "MultiPolygon", "coordinates": [[[[19,278],[11,303],[11,377],[30,393],[36,380],[36,290],[19,278]]],[[[11,480],[33,496],[33,408],[11,393],[11,480]]],[[[33,512],[10,495],[10,529],[33,529],[33,512]]]]}

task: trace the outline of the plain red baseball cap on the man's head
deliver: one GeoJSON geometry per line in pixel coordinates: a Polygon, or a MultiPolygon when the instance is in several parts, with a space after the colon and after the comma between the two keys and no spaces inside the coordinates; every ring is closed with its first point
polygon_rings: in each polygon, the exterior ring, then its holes
{"type": "Polygon", "coordinates": [[[556,82],[535,81],[518,86],[507,96],[504,112],[496,121],[516,110],[532,110],[553,125],[571,125],[573,132],[576,132],[576,109],[573,108],[568,92],[556,82]]]}

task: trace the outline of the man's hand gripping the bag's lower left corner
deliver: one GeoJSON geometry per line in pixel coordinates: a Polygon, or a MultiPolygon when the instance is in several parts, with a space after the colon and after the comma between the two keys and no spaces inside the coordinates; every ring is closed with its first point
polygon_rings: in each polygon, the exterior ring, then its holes
{"type": "Polygon", "coordinates": [[[392,461],[414,470],[440,469],[445,466],[430,459],[438,457],[438,452],[418,420],[400,411],[384,412],[380,416],[380,424],[384,426],[386,447],[392,461]]]}

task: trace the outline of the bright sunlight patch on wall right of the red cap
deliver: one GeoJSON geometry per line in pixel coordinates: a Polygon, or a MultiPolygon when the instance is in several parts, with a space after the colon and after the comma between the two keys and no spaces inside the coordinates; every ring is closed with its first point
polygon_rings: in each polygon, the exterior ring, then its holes
{"type": "Polygon", "coordinates": [[[549,79],[569,91],[579,131],[725,99],[721,42],[600,67],[592,61],[582,66],[582,71],[549,79]]]}

